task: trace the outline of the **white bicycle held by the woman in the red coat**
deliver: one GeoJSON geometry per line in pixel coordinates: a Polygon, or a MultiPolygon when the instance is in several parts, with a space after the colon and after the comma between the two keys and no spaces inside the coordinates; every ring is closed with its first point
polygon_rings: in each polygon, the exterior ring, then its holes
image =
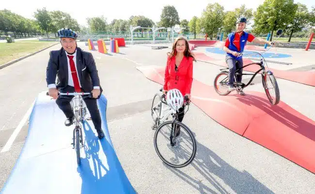
{"type": "MultiPolygon", "coordinates": [[[[160,89],[160,92],[162,92],[163,89],[160,89]]],[[[189,110],[189,99],[187,96],[184,98],[184,104],[183,106],[188,107],[187,111],[189,110]]],[[[184,114],[187,113],[184,109],[184,114]]],[[[152,127],[153,130],[156,129],[155,135],[154,135],[154,147],[157,152],[158,157],[172,167],[184,167],[187,166],[190,162],[193,161],[196,155],[196,140],[191,132],[191,130],[182,122],[178,121],[178,114],[176,113],[176,110],[171,109],[166,102],[166,97],[163,94],[162,96],[160,94],[155,94],[153,101],[152,101],[152,107],[151,107],[151,116],[154,121],[154,125],[152,127]],[[157,99],[157,102],[155,103],[155,100],[157,99]],[[163,108],[163,106],[167,106],[166,108],[163,108]],[[164,114],[164,112],[166,112],[164,114]],[[173,120],[172,121],[166,121],[168,120],[168,117],[172,115],[173,120]],[[170,131],[162,132],[162,129],[164,127],[168,128],[168,125],[170,125],[170,131]],[[161,132],[161,138],[159,138],[159,132],[161,132]],[[180,156],[174,152],[176,148],[179,148],[181,146],[181,142],[184,140],[187,140],[185,138],[191,139],[191,143],[183,143],[182,146],[190,146],[189,148],[182,148],[182,150],[179,150],[180,156]],[[158,144],[159,140],[166,140],[167,146],[163,146],[158,148],[160,144],[158,144]],[[171,158],[171,161],[168,161],[165,159],[165,157],[162,154],[162,151],[169,151],[171,150],[171,153],[173,152],[175,154],[174,157],[171,158]],[[189,150],[191,150],[191,153],[189,154],[189,150]],[[184,162],[179,163],[179,159],[183,159],[184,162]]],[[[165,143],[163,143],[165,144],[165,143]]]]}

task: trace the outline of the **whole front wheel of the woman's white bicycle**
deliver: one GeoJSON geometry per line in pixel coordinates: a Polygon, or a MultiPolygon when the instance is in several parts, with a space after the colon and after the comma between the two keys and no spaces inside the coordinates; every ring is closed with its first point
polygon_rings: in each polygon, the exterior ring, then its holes
{"type": "Polygon", "coordinates": [[[180,168],[193,161],[197,152],[196,140],[191,130],[181,122],[167,121],[154,135],[154,147],[158,157],[169,166],[180,168]],[[176,136],[179,126],[180,132],[176,136]]]}

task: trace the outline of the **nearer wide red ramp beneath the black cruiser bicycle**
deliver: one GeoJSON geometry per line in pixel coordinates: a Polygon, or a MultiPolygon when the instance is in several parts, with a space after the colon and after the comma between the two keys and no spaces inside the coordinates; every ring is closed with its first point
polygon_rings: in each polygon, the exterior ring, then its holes
{"type": "MultiPolygon", "coordinates": [[[[164,67],[137,67],[163,84],[164,67]]],[[[266,95],[218,95],[212,86],[193,80],[191,101],[222,126],[315,173],[315,122],[284,102],[271,105],[266,95]],[[228,110],[228,111],[227,111],[228,110]]]]}

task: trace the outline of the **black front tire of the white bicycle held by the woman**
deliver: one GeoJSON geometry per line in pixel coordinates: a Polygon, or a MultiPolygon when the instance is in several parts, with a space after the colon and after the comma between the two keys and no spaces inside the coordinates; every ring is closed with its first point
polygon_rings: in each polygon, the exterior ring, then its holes
{"type": "Polygon", "coordinates": [[[176,164],[173,164],[173,163],[171,163],[171,162],[168,162],[162,155],[161,155],[161,153],[160,153],[160,151],[158,150],[158,147],[157,147],[157,134],[158,134],[158,132],[165,126],[165,125],[168,125],[168,124],[171,124],[172,125],[172,123],[173,123],[173,121],[167,121],[167,122],[164,122],[164,123],[162,123],[158,128],[157,128],[157,131],[156,131],[156,133],[155,133],[155,135],[154,135],[154,147],[155,147],[155,150],[156,150],[156,152],[157,152],[157,155],[158,155],[158,157],[163,161],[163,162],[165,162],[167,165],[169,165],[169,166],[172,166],[172,167],[175,167],[175,168],[181,168],[181,167],[185,167],[185,166],[187,166],[188,164],[190,164],[193,160],[194,160],[194,158],[195,158],[195,156],[196,156],[196,152],[197,152],[197,143],[196,143],[196,139],[195,139],[195,137],[193,136],[193,134],[192,134],[192,132],[191,132],[191,130],[185,125],[185,124],[183,124],[183,123],[181,123],[181,122],[179,122],[179,121],[175,121],[174,122],[174,124],[175,125],[179,125],[181,128],[181,130],[186,130],[187,131],[187,133],[189,134],[189,136],[190,136],[190,138],[192,139],[192,142],[193,142],[193,144],[192,144],[192,154],[191,154],[191,156],[189,157],[189,159],[186,161],[186,162],[184,162],[183,164],[181,164],[181,165],[176,165],[176,164]]]}

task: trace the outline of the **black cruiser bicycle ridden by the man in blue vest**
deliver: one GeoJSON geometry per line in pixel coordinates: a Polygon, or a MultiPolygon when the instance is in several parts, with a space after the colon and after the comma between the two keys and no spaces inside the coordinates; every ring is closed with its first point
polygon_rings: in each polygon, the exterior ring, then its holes
{"type": "MultiPolygon", "coordinates": [[[[277,31],[277,35],[281,35],[282,33],[282,30],[278,30],[277,31]]],[[[278,38],[279,38],[278,37],[278,38]]],[[[277,39],[278,39],[277,38],[277,39]]],[[[271,49],[272,47],[270,47],[269,49],[271,49]]],[[[269,49],[265,50],[264,52],[268,51],[269,49]]],[[[247,87],[248,85],[250,85],[252,83],[252,80],[254,79],[254,77],[260,72],[261,72],[261,76],[262,76],[262,83],[263,83],[263,87],[264,87],[264,90],[265,90],[265,93],[266,93],[266,96],[268,97],[268,100],[270,101],[271,104],[273,105],[276,105],[280,102],[280,91],[279,91],[279,87],[278,87],[278,83],[277,83],[277,80],[276,78],[274,77],[273,73],[268,69],[266,70],[265,68],[265,65],[268,67],[267,65],[267,62],[265,60],[265,58],[262,56],[262,54],[260,54],[259,52],[256,52],[256,51],[251,51],[252,53],[254,53],[254,55],[258,54],[260,56],[260,63],[251,63],[251,64],[247,64],[245,66],[242,66],[240,68],[237,68],[236,69],[236,73],[235,73],[235,76],[234,76],[234,83],[233,83],[233,87],[236,88],[236,91],[237,92],[240,92],[242,91],[245,87],[247,87]],[[249,65],[259,65],[260,66],[260,69],[258,71],[256,71],[254,74],[246,74],[246,73],[239,73],[239,71],[246,67],[246,66],[249,66],[249,65]],[[253,75],[252,76],[252,79],[247,83],[243,83],[243,82],[237,82],[236,80],[236,76],[238,75],[253,75]],[[267,83],[267,79],[269,78],[270,82],[271,82],[271,85],[272,85],[272,88],[274,89],[274,92],[275,92],[275,97],[272,97],[270,95],[270,88],[268,83],[267,83]]],[[[239,57],[240,56],[243,56],[243,52],[240,53],[239,57]]],[[[248,54],[250,55],[250,54],[248,54]]],[[[238,62],[236,62],[238,63],[238,62]]],[[[229,91],[228,90],[228,80],[229,80],[229,72],[227,71],[229,68],[223,68],[223,69],[220,69],[220,73],[216,76],[216,78],[214,79],[214,89],[215,91],[221,95],[221,96],[226,96],[228,94],[230,94],[232,91],[229,91]],[[223,80],[222,81],[218,81],[219,78],[221,76],[225,76],[223,77],[223,80]],[[219,84],[218,84],[219,83],[219,84]],[[225,86],[226,87],[226,91],[220,91],[219,89],[219,85],[221,86],[225,86]]]]}

